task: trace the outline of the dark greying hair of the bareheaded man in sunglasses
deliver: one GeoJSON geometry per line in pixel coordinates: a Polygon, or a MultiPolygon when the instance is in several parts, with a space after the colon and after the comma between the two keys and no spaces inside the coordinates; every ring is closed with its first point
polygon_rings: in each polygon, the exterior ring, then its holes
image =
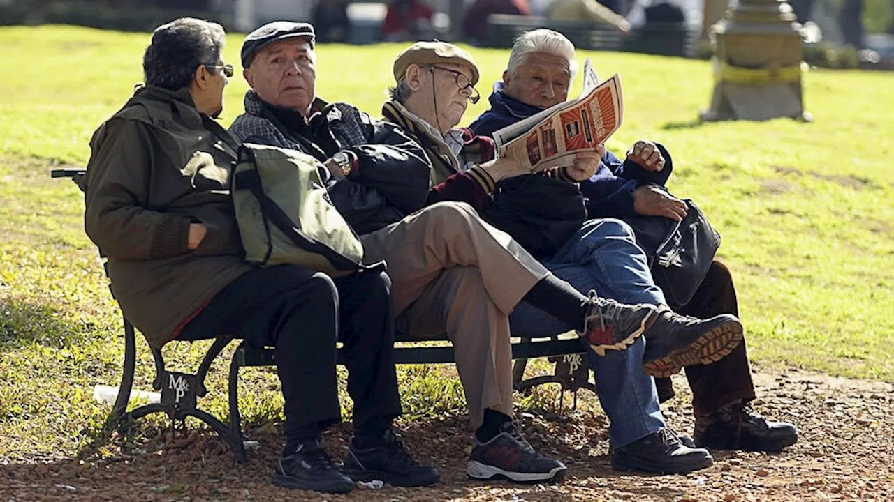
{"type": "Polygon", "coordinates": [[[226,33],[216,22],[180,18],[156,28],[143,55],[148,86],[179,90],[190,86],[202,64],[217,64],[226,33]]]}

